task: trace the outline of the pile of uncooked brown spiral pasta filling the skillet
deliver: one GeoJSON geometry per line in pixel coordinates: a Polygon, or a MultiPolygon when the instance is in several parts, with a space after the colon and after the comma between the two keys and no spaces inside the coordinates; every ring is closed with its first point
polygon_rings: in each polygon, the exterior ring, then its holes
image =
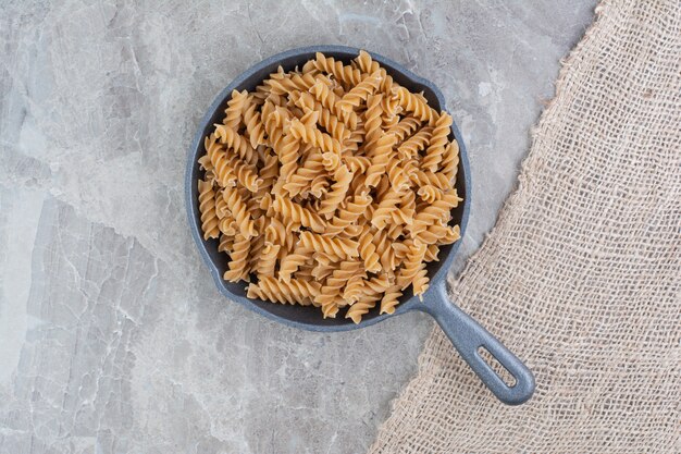
{"type": "Polygon", "coordinates": [[[318,53],[236,91],[205,138],[203,238],[230,255],[247,296],[314,305],[359,323],[403,292],[428,290],[425,263],[459,238],[451,209],[459,148],[451,116],[399,86],[361,51],[318,53]]]}

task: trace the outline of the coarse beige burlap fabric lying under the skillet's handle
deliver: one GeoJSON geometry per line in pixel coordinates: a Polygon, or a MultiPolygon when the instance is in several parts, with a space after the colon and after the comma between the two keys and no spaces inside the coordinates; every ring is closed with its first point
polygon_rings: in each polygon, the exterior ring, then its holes
{"type": "Polygon", "coordinates": [[[681,1],[599,5],[453,293],[535,396],[496,402],[435,329],[371,453],[681,452],[681,1]]]}

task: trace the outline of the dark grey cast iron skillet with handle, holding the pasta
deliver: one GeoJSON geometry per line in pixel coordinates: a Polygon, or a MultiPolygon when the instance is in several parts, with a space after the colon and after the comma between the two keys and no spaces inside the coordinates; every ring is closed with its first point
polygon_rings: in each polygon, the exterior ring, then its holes
{"type": "MultiPolygon", "coordinates": [[[[312,306],[289,306],[272,304],[259,299],[248,299],[246,298],[245,284],[243,282],[230,283],[222,279],[222,274],[227,269],[227,259],[225,254],[218,253],[218,241],[205,241],[201,235],[197,188],[200,172],[197,159],[205,152],[203,137],[211,133],[213,123],[220,123],[222,121],[230,94],[233,89],[253,90],[262,79],[275,72],[278,65],[282,65],[286,71],[293,70],[296,65],[302,66],[306,61],[314,58],[315,52],[323,52],[326,57],[333,57],[349,63],[351,59],[357,57],[359,49],[344,46],[313,46],[288,50],[256,64],[236,77],[236,79],[218,95],[208,109],[208,113],[203,120],[201,120],[199,130],[189,149],[185,177],[185,197],[191,234],[203,261],[213,275],[215,285],[224,296],[240,303],[269,319],[290,327],[324,332],[346,331],[369,327],[391,316],[379,315],[379,308],[376,307],[362,318],[359,324],[355,324],[351,320],[343,317],[323,319],[319,308],[312,306]]],[[[436,110],[445,109],[445,99],[442,93],[431,82],[417,76],[400,64],[385,57],[376,53],[371,53],[371,57],[380,62],[400,85],[414,93],[423,91],[429,103],[436,110]]],[[[461,226],[461,237],[463,237],[471,205],[471,173],[468,165],[466,147],[463,146],[461,134],[455,124],[451,125],[451,133],[460,147],[460,161],[456,185],[458,194],[463,198],[463,203],[453,210],[453,216],[455,222],[461,226]]],[[[414,297],[411,291],[409,291],[400,298],[400,304],[397,306],[395,315],[404,314],[409,310],[421,310],[430,314],[435,318],[445,334],[447,334],[459,354],[487,388],[490,388],[494,395],[509,405],[522,404],[530,398],[534,392],[534,377],[532,372],[499,341],[454,305],[447,296],[445,287],[447,270],[451,265],[451,260],[458,247],[459,242],[441,247],[439,261],[430,262],[428,266],[431,287],[423,295],[423,302],[414,297]],[[494,369],[482,358],[480,355],[481,349],[486,349],[508,372],[510,372],[515,379],[513,384],[508,385],[505,383],[494,369]]]]}

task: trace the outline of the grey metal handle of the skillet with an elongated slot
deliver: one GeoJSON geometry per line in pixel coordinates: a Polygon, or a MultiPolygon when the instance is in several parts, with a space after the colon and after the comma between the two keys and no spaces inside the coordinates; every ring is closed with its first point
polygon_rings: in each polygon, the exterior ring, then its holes
{"type": "Polygon", "coordinates": [[[445,280],[423,295],[419,309],[430,314],[439,324],[480,380],[503,403],[520,405],[534,393],[534,376],[508,348],[490,334],[480,323],[459,309],[447,296],[445,280]],[[507,384],[481,356],[486,349],[513,377],[515,383],[507,384]]]}

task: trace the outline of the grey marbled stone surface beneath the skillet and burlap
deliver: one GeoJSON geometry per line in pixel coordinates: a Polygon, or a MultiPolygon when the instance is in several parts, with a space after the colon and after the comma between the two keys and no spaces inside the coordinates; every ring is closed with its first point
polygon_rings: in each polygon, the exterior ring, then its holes
{"type": "Polygon", "coordinates": [[[0,452],[362,452],[432,322],[319,334],[221,297],[183,206],[199,119],[292,47],[406,64],[442,87],[470,150],[463,258],[594,3],[4,1],[0,452]]]}

